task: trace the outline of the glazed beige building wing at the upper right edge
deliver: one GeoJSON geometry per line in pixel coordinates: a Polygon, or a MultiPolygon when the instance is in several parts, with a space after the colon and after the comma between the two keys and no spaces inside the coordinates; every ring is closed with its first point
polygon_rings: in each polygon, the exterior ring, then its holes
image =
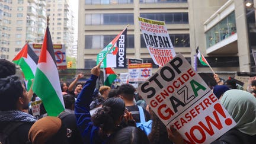
{"type": "Polygon", "coordinates": [[[205,53],[216,71],[255,72],[254,7],[244,0],[229,0],[204,21],[205,53]]]}

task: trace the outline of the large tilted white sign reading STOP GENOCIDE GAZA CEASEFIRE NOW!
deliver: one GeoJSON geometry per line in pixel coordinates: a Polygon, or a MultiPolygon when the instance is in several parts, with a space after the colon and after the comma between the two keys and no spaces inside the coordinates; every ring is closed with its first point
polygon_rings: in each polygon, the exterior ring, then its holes
{"type": "Polygon", "coordinates": [[[211,143],[236,124],[181,54],[137,91],[159,119],[167,127],[174,126],[187,143],[211,143]]]}

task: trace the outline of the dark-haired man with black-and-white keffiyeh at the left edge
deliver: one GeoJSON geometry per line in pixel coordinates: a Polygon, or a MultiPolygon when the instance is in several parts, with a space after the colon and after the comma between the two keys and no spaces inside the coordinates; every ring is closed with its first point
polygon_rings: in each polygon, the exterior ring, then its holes
{"type": "Polygon", "coordinates": [[[0,98],[0,142],[26,143],[36,118],[22,111],[28,108],[28,95],[18,76],[0,79],[0,98]]]}

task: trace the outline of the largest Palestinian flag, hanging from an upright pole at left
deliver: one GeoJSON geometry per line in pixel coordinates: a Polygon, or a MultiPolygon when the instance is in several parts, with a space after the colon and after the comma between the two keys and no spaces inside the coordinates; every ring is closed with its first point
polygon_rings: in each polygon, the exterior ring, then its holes
{"type": "Polygon", "coordinates": [[[43,101],[49,116],[58,116],[59,113],[65,110],[48,26],[46,27],[32,89],[43,101]]]}

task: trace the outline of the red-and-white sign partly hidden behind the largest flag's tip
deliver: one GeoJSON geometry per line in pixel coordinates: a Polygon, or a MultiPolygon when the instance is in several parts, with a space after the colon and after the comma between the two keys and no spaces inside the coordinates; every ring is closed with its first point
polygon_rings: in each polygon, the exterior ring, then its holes
{"type": "MultiPolygon", "coordinates": [[[[40,56],[41,53],[41,43],[30,43],[30,47],[40,56]]],[[[66,48],[65,44],[53,44],[53,49],[55,52],[55,60],[57,64],[57,69],[66,69],[66,48]]]]}

